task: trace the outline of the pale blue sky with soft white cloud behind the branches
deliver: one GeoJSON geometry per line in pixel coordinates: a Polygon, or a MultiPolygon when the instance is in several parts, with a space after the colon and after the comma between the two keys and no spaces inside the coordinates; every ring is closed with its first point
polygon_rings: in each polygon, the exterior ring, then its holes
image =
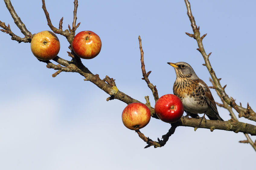
{"type": "MultiPolygon", "coordinates": [[[[248,1],[190,1],[200,26],[206,53],[226,93],[256,110],[255,99],[255,5],[248,1]]],[[[210,74],[196,50],[184,1],[79,1],[76,33],[91,30],[101,37],[101,53],[84,65],[103,79],[116,79],[117,88],[145,102],[152,92],[142,80],[138,36],[141,36],[146,70],[159,96],[173,93],[176,75],[167,62],[189,63],[207,85],[210,74]]],[[[50,30],[41,1],[12,1],[32,34],[50,30]]],[[[49,1],[46,7],[54,26],[64,17],[63,29],[72,25],[73,1],[49,1]]],[[[14,24],[5,3],[0,20],[24,37],[14,24]]],[[[57,35],[59,56],[67,55],[68,42],[57,35]]],[[[60,73],[39,62],[29,43],[12,41],[0,32],[0,169],[253,169],[255,151],[242,133],[178,127],[162,148],[147,148],[121,120],[126,106],[109,97],[77,73],[60,73]]],[[[212,90],[215,101],[221,102],[212,90]]],[[[224,120],[227,110],[218,107],[224,120]]],[[[237,114],[236,114],[237,115],[237,114]]],[[[255,122],[239,118],[255,125],[255,122]]],[[[152,140],[161,138],[170,125],[151,119],[141,129],[152,140]]],[[[256,138],[252,137],[254,141],[256,138]]]]}

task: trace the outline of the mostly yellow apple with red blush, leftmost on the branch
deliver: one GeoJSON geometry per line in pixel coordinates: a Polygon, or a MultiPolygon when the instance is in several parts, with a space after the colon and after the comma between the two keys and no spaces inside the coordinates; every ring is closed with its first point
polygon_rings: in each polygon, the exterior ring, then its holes
{"type": "Polygon", "coordinates": [[[33,36],[30,48],[40,60],[52,60],[59,53],[59,39],[51,31],[38,32],[33,36]]]}

